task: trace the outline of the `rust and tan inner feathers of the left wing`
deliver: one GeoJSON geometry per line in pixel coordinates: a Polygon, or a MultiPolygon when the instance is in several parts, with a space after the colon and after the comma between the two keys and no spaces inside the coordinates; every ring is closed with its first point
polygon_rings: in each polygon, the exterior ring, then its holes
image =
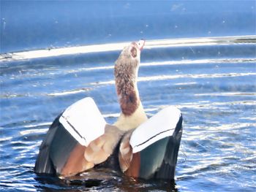
{"type": "MultiPolygon", "coordinates": [[[[61,170],[59,170],[61,176],[72,176],[106,161],[113,153],[114,148],[121,138],[121,134],[122,132],[118,131],[116,126],[106,124],[105,133],[91,141],[87,147],[80,145],[78,142],[74,147],[72,145],[65,146],[67,151],[69,151],[69,147],[72,147],[72,150],[70,150],[69,157],[65,161],[64,166],[61,164],[61,159],[56,159],[55,161],[55,164],[59,164],[59,167],[61,167],[61,170]]],[[[59,156],[64,156],[64,153],[59,156]]]]}

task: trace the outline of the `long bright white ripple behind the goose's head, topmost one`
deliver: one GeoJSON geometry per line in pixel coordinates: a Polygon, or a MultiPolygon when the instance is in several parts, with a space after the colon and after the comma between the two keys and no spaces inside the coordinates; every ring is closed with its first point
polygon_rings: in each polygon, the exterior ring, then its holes
{"type": "MultiPolygon", "coordinates": [[[[31,58],[45,58],[60,55],[74,55],[81,53],[100,53],[106,51],[122,50],[130,42],[118,42],[103,45],[86,45],[78,47],[63,47],[45,50],[30,50],[26,52],[1,54],[0,61],[19,61],[31,58]]],[[[255,44],[256,36],[234,36],[234,37],[199,37],[184,39],[153,39],[147,40],[144,49],[164,47],[192,47],[209,45],[233,45],[233,44],[255,44]]]]}

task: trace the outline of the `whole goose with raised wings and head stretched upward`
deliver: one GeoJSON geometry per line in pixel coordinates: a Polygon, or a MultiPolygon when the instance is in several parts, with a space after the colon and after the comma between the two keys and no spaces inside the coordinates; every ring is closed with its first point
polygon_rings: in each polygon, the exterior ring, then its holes
{"type": "Polygon", "coordinates": [[[39,147],[37,174],[71,177],[107,166],[129,177],[173,180],[182,135],[182,115],[168,106],[148,118],[138,91],[140,52],[145,40],[124,47],[114,66],[120,115],[106,123],[94,99],[67,107],[39,147]]]}

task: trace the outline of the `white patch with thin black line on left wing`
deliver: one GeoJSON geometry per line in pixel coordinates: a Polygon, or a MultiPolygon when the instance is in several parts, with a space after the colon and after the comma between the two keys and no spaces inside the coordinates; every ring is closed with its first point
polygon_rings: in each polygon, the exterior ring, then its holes
{"type": "Polygon", "coordinates": [[[105,132],[105,119],[90,97],[75,102],[63,112],[59,122],[80,145],[88,146],[105,132]]]}

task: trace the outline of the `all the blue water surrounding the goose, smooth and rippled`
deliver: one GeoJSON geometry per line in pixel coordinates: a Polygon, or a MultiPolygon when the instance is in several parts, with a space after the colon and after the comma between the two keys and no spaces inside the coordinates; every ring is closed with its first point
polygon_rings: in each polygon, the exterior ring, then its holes
{"type": "Polygon", "coordinates": [[[144,1],[62,2],[1,1],[1,191],[256,190],[254,1],[149,1],[146,6],[144,1]],[[39,11],[32,9],[37,3],[39,11]],[[58,7],[65,14],[56,12],[58,7]],[[31,15],[37,17],[32,20],[31,15]],[[99,29],[104,16],[106,23],[99,29]],[[53,20],[62,26],[53,28],[53,20]],[[91,31],[82,20],[94,23],[91,31]],[[35,28],[38,23],[44,27],[35,28]],[[65,31],[65,26],[70,28],[65,31]],[[127,31],[131,26],[134,30],[127,31]],[[123,43],[141,37],[148,40],[138,88],[148,116],[174,105],[184,117],[175,182],[136,180],[108,169],[70,180],[34,174],[50,123],[70,104],[91,96],[106,120],[115,122],[119,107],[113,64],[123,43]],[[99,47],[94,52],[79,47],[86,45],[99,47]],[[65,54],[70,48],[74,53],[65,54]],[[47,53],[31,52],[40,49],[47,53]]]}

